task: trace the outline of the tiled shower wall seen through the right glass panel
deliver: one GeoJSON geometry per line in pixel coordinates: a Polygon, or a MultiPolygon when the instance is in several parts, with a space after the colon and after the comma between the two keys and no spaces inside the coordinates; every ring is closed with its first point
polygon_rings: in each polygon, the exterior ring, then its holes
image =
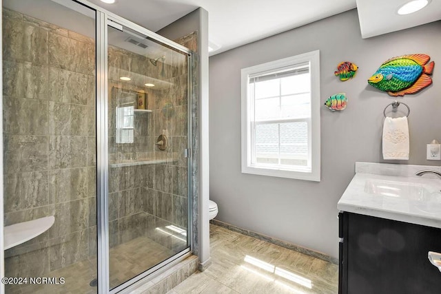
{"type": "MultiPolygon", "coordinates": [[[[185,237],[181,235],[183,240],[179,240],[162,231],[173,233],[164,229],[170,225],[187,228],[187,63],[176,59],[154,66],[150,58],[109,49],[109,75],[113,78],[109,82],[108,132],[110,158],[116,163],[110,165],[109,176],[110,246],[145,235],[176,252],[187,246],[185,237]],[[154,90],[133,81],[119,81],[127,72],[165,81],[167,86],[154,90]],[[152,112],[134,113],[134,144],[116,143],[115,109],[120,101],[115,89],[147,93],[146,106],[152,112]],[[168,138],[165,151],[156,150],[154,145],[161,134],[168,138]],[[145,161],[146,156],[163,162],[118,166],[121,158],[145,161]]],[[[136,95],[133,103],[136,105],[136,95]]]]}

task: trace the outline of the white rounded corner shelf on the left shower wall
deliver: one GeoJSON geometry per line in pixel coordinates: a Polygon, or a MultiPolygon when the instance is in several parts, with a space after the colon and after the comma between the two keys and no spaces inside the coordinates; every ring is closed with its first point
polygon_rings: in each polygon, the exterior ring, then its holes
{"type": "Polygon", "coordinates": [[[18,224],[4,227],[5,250],[41,235],[48,231],[54,222],[55,218],[53,216],[46,216],[45,218],[37,218],[37,220],[19,222],[18,224]]]}

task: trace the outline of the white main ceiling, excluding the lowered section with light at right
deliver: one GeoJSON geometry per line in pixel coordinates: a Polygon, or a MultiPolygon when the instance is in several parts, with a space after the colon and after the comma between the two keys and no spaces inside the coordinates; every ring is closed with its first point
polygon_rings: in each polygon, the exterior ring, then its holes
{"type": "Polygon", "coordinates": [[[198,7],[208,11],[212,54],[356,8],[356,0],[116,0],[90,2],[156,32],[198,7]]]}

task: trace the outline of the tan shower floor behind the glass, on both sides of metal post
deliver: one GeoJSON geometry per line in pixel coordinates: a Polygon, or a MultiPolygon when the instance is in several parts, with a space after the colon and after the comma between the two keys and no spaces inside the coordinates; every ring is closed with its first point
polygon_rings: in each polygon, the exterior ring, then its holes
{"type": "MultiPolygon", "coordinates": [[[[149,238],[139,237],[110,249],[110,286],[114,288],[123,282],[170,258],[174,251],[149,238]]],[[[76,262],[63,269],[52,271],[45,277],[64,277],[64,284],[27,284],[8,286],[8,294],[88,294],[97,293],[90,282],[96,278],[96,259],[76,262]]]]}

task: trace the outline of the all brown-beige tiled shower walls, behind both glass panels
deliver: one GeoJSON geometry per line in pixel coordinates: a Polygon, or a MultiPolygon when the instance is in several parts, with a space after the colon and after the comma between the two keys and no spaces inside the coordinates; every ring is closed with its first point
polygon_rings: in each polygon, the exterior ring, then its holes
{"type": "MultiPolygon", "coordinates": [[[[5,252],[7,276],[43,276],[96,254],[94,48],[88,37],[3,8],[5,223],[55,216],[50,230],[5,252]]],[[[187,228],[186,66],[154,67],[117,48],[110,48],[109,65],[171,85],[152,90],[109,82],[110,105],[112,87],[120,87],[147,92],[153,110],[136,114],[135,142],[121,145],[110,108],[111,158],[154,152],[163,130],[170,144],[155,153],[165,162],[110,167],[110,246],[145,235],[181,250],[185,243],[156,228],[187,228]]]]}

